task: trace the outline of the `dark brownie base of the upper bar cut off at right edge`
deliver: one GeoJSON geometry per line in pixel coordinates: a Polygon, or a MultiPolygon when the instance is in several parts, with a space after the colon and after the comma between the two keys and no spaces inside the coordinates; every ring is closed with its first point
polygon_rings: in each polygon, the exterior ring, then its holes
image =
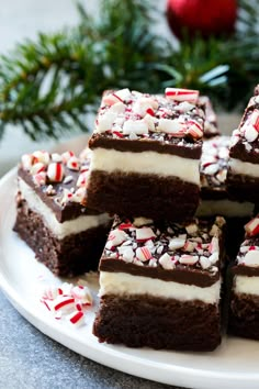
{"type": "Polygon", "coordinates": [[[259,178],[228,174],[227,191],[233,199],[259,202],[259,178]]]}

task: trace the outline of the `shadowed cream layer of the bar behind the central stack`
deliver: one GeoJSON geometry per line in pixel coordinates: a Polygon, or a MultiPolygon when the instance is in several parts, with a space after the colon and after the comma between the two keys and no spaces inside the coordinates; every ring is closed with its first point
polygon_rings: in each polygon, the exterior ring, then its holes
{"type": "Polygon", "coordinates": [[[196,216],[222,215],[226,218],[244,218],[251,216],[255,204],[252,202],[238,202],[230,200],[202,200],[196,216]]]}

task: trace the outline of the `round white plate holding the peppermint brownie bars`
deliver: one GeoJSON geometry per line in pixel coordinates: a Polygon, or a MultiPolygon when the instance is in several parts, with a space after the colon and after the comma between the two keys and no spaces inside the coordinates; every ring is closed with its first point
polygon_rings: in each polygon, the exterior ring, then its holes
{"type": "MultiPolygon", "coordinates": [[[[227,337],[215,352],[200,354],[133,349],[98,343],[91,334],[97,303],[82,327],[55,320],[40,302],[38,289],[43,282],[63,280],[38,264],[12,232],[15,189],[13,169],[0,181],[0,286],[16,310],[40,331],[100,364],[155,381],[199,389],[259,388],[257,342],[227,337]]],[[[90,286],[95,294],[94,277],[90,286]]]]}

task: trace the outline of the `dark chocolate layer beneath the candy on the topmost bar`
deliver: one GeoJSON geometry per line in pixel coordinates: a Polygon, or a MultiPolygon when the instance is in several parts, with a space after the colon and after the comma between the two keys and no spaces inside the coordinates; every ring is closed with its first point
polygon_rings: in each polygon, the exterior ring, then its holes
{"type": "Polygon", "coordinates": [[[179,144],[179,138],[171,138],[170,141],[158,141],[150,137],[140,140],[128,138],[113,138],[109,134],[94,133],[90,141],[89,147],[91,149],[102,147],[108,149],[115,149],[119,152],[156,152],[159,154],[178,155],[183,158],[200,159],[202,153],[202,141],[195,143],[188,143],[182,141],[179,144]]]}

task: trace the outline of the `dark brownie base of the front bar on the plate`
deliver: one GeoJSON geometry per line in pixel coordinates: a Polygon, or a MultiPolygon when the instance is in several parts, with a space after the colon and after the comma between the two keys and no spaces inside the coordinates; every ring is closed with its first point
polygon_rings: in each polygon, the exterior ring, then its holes
{"type": "Polygon", "coordinates": [[[221,343],[219,312],[200,301],[104,296],[93,334],[99,342],[128,347],[213,351],[221,343]]]}

